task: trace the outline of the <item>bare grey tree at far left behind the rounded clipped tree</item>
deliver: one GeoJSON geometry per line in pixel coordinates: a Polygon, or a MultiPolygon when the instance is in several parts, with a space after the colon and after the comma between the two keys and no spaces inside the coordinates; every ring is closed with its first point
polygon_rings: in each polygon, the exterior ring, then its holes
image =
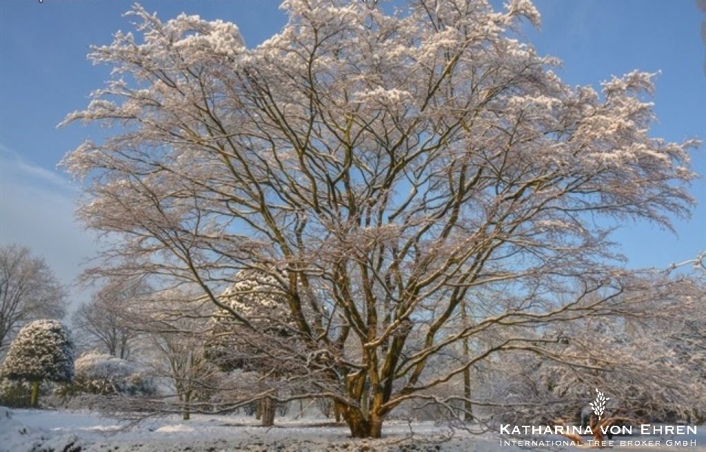
{"type": "Polygon", "coordinates": [[[0,351],[23,322],[61,319],[66,290],[42,257],[19,245],[0,245],[0,351]]]}

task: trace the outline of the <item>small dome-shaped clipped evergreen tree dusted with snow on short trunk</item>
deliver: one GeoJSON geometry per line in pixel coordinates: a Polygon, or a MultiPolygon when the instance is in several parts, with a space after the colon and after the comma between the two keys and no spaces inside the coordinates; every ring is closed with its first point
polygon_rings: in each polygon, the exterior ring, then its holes
{"type": "Polygon", "coordinates": [[[56,320],[35,320],[12,341],[3,374],[32,383],[31,405],[37,406],[40,383],[73,379],[74,346],[71,334],[56,320]]]}

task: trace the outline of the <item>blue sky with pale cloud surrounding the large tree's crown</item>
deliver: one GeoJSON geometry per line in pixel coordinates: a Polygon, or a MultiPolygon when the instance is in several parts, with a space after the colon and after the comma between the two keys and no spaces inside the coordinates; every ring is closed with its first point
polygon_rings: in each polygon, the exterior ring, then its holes
{"type": "MultiPolygon", "coordinates": [[[[128,30],[126,0],[0,1],[0,243],[27,245],[44,255],[59,278],[71,283],[80,262],[95,250],[93,237],[73,221],[76,186],[56,163],[100,130],[56,124],[88,102],[109,68],[86,59],[90,44],[107,44],[128,30]]],[[[273,0],[143,1],[162,19],[181,11],[236,23],[255,46],[285,23],[273,0]]],[[[501,1],[493,1],[499,6],[501,1]]],[[[536,0],[542,30],[525,36],[541,54],[563,60],[559,75],[571,85],[597,85],[639,68],[657,78],[653,134],[679,141],[706,139],[704,15],[694,0],[536,0]]],[[[693,156],[706,175],[706,150],[693,156]]],[[[630,267],[665,266],[706,249],[706,183],[692,193],[699,205],[677,234],[647,224],[626,224],[615,240],[630,267]]],[[[85,293],[74,290],[77,298],[85,293]]]]}

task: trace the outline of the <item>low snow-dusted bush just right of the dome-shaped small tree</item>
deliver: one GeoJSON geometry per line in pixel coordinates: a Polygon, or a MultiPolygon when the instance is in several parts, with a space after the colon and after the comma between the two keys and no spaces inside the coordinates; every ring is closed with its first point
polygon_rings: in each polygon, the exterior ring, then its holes
{"type": "Polygon", "coordinates": [[[67,396],[122,394],[150,396],[157,392],[152,378],[136,363],[104,353],[84,353],[76,360],[76,376],[67,396]]]}

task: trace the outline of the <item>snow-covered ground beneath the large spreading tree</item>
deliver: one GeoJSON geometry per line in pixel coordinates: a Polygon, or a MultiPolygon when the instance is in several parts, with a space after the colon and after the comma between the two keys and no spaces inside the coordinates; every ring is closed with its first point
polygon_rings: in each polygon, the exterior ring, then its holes
{"type": "MultiPolygon", "coordinates": [[[[316,419],[280,420],[276,427],[258,427],[252,417],[196,415],[148,420],[125,429],[120,421],[97,413],[63,410],[0,408],[0,451],[522,451],[501,446],[497,434],[473,435],[433,422],[388,422],[384,438],[351,439],[345,425],[316,419]]],[[[544,439],[561,440],[560,437],[544,439]]],[[[637,439],[637,437],[635,437],[637,439]]],[[[647,437],[664,441],[668,436],[647,437]]],[[[676,438],[675,438],[676,439],[676,438]]],[[[682,437],[683,439],[683,437],[682,437]]],[[[696,447],[616,447],[614,450],[706,451],[705,427],[699,427],[696,447]]],[[[543,447],[560,451],[572,448],[543,447]]]]}

